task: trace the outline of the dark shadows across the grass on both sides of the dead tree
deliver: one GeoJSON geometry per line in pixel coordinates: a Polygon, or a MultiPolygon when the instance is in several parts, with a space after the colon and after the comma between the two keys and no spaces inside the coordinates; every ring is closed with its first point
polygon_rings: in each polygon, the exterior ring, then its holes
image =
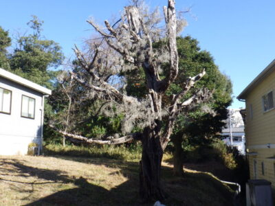
{"type": "MultiPolygon", "coordinates": [[[[138,195],[138,168],[137,162],[124,162],[103,158],[81,157],[56,157],[70,161],[105,165],[109,168],[118,168],[118,172],[125,176],[128,181],[106,190],[100,185],[89,183],[87,179],[80,177],[71,179],[61,170],[47,170],[24,165],[22,161],[12,159],[5,161],[10,164],[9,170],[17,170],[22,176],[36,176],[47,181],[60,181],[73,183],[76,188],[61,190],[49,196],[29,203],[34,205],[153,205],[142,204],[138,195]]],[[[3,163],[3,161],[1,161],[3,163]]],[[[19,175],[20,175],[19,174],[19,175]]],[[[232,193],[212,176],[203,173],[186,173],[183,178],[174,177],[172,168],[162,168],[163,184],[168,194],[166,205],[232,205],[232,193]]],[[[110,174],[112,175],[112,174],[110,174]]],[[[115,175],[113,176],[113,178],[115,175]]],[[[1,179],[0,179],[1,181],[1,179]]],[[[45,185],[47,187],[47,185],[45,185]]]]}

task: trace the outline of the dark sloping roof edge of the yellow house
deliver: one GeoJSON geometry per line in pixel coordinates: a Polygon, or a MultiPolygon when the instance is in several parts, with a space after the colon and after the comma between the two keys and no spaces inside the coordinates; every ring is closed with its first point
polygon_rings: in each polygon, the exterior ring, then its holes
{"type": "Polygon", "coordinates": [[[256,85],[259,84],[263,80],[263,78],[265,78],[265,76],[271,73],[275,69],[274,66],[275,59],[272,60],[272,62],[270,62],[270,64],[267,65],[267,67],[265,67],[265,69],[263,69],[263,71],[261,71],[261,73],[259,73],[259,75],[256,76],[256,78],[254,78],[254,80],[252,80],[252,82],[250,82],[250,84],[248,84],[248,86],[245,87],[245,89],[243,89],[243,91],[236,98],[238,100],[245,100],[245,96],[248,94],[248,92],[256,87],[256,85]]]}

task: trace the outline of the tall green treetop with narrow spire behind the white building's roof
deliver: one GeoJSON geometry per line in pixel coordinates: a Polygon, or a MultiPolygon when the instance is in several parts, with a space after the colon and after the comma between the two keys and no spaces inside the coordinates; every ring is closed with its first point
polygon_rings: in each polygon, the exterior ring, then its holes
{"type": "Polygon", "coordinates": [[[53,89],[51,81],[56,73],[50,68],[56,68],[64,60],[58,43],[41,36],[43,21],[32,16],[28,22],[33,34],[21,36],[17,47],[10,56],[11,70],[19,76],[53,89]]]}

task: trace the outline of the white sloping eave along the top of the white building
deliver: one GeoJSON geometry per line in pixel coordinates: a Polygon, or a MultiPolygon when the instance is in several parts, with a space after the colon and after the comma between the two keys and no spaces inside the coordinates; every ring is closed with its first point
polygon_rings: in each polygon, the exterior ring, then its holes
{"type": "Polygon", "coordinates": [[[9,71],[6,71],[5,69],[0,68],[0,76],[5,79],[11,80],[12,82],[16,82],[17,84],[21,84],[25,87],[33,89],[35,91],[39,91],[40,93],[43,93],[44,95],[52,94],[52,90],[42,87],[39,84],[36,84],[29,80],[26,80],[25,78],[21,78],[20,76],[17,76],[14,73],[10,73],[9,71]]]}

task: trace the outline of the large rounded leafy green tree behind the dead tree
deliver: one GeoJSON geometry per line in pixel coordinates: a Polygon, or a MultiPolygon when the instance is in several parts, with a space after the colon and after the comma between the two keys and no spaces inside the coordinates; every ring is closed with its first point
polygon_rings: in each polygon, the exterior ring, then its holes
{"type": "MultiPolygon", "coordinates": [[[[155,43],[155,47],[162,47],[165,42],[155,43]]],[[[182,159],[184,155],[183,146],[209,144],[211,137],[216,137],[224,126],[223,120],[227,118],[227,107],[231,103],[232,83],[230,79],[219,71],[211,54],[201,50],[199,42],[190,36],[177,38],[177,50],[179,54],[179,75],[173,84],[170,85],[164,103],[169,103],[170,95],[178,93],[184,86],[184,82],[190,76],[195,76],[201,70],[206,70],[206,75],[195,84],[186,99],[194,91],[201,88],[208,88],[213,91],[212,99],[207,104],[201,104],[190,111],[185,111],[177,117],[177,122],[173,128],[171,139],[174,146],[174,166],[179,174],[182,172],[182,159]]],[[[164,75],[169,68],[163,65],[164,75]]],[[[143,98],[146,91],[146,83],[141,79],[144,77],[142,69],[126,73],[127,87],[129,95],[143,98]],[[135,73],[133,73],[135,72],[135,73]]],[[[175,169],[175,168],[174,168],[175,169]]]]}

